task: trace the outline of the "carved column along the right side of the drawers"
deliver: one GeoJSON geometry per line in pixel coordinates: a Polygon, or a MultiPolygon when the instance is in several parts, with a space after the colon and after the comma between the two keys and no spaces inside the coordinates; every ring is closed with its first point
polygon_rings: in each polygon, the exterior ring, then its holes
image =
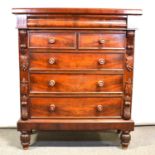
{"type": "Polygon", "coordinates": [[[125,53],[125,77],[124,77],[124,107],[123,118],[131,118],[132,105],[132,82],[133,82],[133,63],[134,63],[134,30],[127,30],[127,49],[125,53]]]}

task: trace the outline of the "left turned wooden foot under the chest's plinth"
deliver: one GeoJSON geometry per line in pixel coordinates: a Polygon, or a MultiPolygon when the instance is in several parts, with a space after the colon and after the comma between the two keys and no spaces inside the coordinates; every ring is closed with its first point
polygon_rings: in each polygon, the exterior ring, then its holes
{"type": "Polygon", "coordinates": [[[24,150],[27,150],[30,145],[30,132],[28,131],[21,131],[20,135],[21,144],[24,150]]]}

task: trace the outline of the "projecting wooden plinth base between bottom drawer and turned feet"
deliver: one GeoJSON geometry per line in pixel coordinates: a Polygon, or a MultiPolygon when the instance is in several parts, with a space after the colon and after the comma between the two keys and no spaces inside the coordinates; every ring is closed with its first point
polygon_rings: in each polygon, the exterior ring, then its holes
{"type": "Polygon", "coordinates": [[[54,130],[54,131],[103,131],[120,129],[133,131],[134,122],[123,119],[29,119],[18,121],[19,131],[54,130]]]}

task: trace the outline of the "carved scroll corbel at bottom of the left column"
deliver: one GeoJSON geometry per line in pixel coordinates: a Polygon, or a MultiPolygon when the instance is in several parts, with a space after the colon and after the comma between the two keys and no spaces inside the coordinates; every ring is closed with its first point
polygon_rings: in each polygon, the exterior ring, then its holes
{"type": "Polygon", "coordinates": [[[23,95],[21,97],[21,117],[23,120],[27,120],[28,119],[28,102],[27,102],[28,98],[26,95],[23,95]]]}

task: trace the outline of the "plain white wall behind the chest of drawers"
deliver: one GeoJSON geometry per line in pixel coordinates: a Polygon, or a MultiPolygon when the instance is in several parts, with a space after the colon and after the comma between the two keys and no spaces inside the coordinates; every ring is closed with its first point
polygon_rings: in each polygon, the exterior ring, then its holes
{"type": "MultiPolygon", "coordinates": [[[[130,17],[136,32],[132,118],[155,124],[155,9],[148,0],[0,0],[0,127],[16,126],[20,117],[18,36],[13,7],[140,8],[130,17]]],[[[132,23],[132,25],[131,25],[132,23]]]]}

